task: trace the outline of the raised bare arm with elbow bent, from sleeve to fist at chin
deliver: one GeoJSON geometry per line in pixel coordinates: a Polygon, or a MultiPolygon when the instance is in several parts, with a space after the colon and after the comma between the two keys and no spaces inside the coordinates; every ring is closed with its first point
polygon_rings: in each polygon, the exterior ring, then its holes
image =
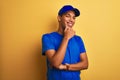
{"type": "Polygon", "coordinates": [[[50,61],[51,65],[54,66],[55,68],[59,68],[66,52],[66,48],[68,45],[68,41],[70,38],[74,36],[75,32],[72,29],[65,29],[64,32],[64,38],[60,44],[60,47],[57,51],[55,50],[47,50],[45,52],[48,60],[50,61]]]}

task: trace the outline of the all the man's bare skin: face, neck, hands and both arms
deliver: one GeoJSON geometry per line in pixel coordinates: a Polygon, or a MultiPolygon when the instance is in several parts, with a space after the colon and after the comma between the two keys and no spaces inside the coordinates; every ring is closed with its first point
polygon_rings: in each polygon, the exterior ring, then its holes
{"type": "Polygon", "coordinates": [[[68,41],[75,35],[75,31],[72,28],[75,24],[76,17],[74,11],[68,11],[62,16],[58,16],[57,19],[59,22],[59,28],[57,32],[61,35],[64,35],[64,37],[57,51],[51,49],[45,52],[48,60],[51,63],[51,66],[61,70],[72,71],[87,69],[88,58],[86,53],[80,54],[81,61],[76,64],[62,64],[68,41]]]}

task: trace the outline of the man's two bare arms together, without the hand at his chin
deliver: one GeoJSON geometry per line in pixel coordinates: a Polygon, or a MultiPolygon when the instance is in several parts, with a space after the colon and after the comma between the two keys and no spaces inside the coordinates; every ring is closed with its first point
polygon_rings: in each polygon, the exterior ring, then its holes
{"type": "Polygon", "coordinates": [[[88,68],[88,58],[86,53],[80,54],[81,61],[76,64],[62,64],[62,61],[65,56],[66,48],[68,44],[68,39],[63,38],[63,41],[57,51],[55,50],[47,50],[45,52],[51,66],[61,69],[61,70],[83,70],[88,68]]]}

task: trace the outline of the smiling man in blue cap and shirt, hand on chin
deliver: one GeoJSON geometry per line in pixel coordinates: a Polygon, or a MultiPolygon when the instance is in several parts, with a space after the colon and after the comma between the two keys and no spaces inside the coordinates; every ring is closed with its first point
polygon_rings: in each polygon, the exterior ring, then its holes
{"type": "Polygon", "coordinates": [[[80,11],[71,5],[58,12],[58,31],[44,34],[42,54],[47,56],[47,80],[80,80],[80,71],[88,68],[81,37],[72,29],[80,11]]]}

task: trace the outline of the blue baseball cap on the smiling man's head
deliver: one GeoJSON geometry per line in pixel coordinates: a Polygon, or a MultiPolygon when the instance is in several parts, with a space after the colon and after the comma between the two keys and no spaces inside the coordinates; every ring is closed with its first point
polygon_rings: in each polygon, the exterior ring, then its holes
{"type": "Polygon", "coordinates": [[[80,11],[77,8],[72,7],[71,5],[65,5],[65,6],[63,6],[59,10],[58,15],[61,16],[62,14],[66,13],[67,11],[74,11],[75,12],[75,17],[77,17],[77,16],[80,15],[80,11]]]}

